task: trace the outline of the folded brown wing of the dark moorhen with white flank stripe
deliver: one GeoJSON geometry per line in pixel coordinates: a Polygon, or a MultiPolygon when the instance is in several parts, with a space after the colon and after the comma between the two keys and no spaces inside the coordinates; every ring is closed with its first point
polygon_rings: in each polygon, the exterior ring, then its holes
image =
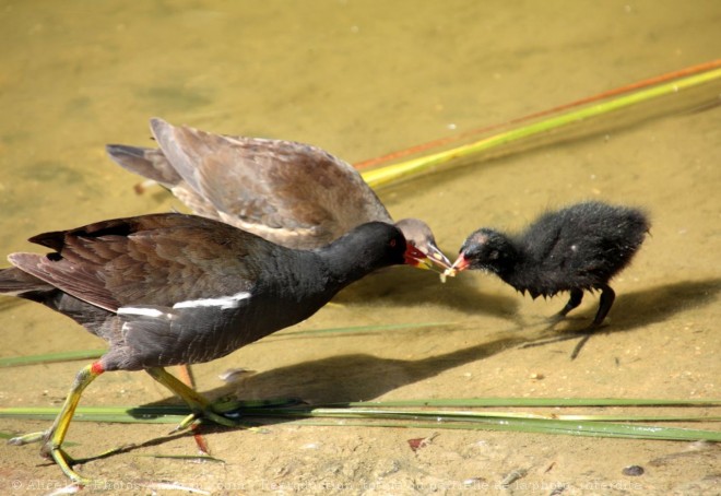
{"type": "Polygon", "coordinates": [[[13,253],[14,265],[110,311],[251,291],[263,251],[277,249],[233,226],[181,214],[107,221],[32,240],[57,252],[13,253]]]}

